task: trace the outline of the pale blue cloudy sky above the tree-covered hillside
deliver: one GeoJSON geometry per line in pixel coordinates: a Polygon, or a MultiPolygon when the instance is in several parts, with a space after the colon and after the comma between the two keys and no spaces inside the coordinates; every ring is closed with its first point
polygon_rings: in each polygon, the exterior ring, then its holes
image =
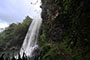
{"type": "Polygon", "coordinates": [[[0,0],[0,28],[22,22],[26,16],[40,18],[40,0],[0,0]]]}

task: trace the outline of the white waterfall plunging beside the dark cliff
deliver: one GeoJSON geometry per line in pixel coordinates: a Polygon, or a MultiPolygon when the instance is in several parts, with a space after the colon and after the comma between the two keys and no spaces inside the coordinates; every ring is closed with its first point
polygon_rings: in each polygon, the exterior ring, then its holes
{"type": "Polygon", "coordinates": [[[32,21],[24,39],[23,45],[20,49],[21,57],[23,56],[23,53],[25,53],[28,57],[32,57],[33,51],[38,48],[37,39],[41,23],[42,19],[34,19],[32,21]]]}

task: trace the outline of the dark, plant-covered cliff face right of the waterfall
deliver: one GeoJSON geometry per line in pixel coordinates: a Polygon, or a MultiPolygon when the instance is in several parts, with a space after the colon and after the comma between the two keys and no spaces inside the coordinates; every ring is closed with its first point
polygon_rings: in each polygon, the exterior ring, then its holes
{"type": "Polygon", "coordinates": [[[41,59],[90,59],[90,1],[41,1],[41,59]]]}

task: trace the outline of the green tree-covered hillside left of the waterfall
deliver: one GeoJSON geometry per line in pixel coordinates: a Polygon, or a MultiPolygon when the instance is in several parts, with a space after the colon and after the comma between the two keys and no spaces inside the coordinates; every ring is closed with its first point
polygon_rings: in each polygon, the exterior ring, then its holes
{"type": "Polygon", "coordinates": [[[0,48],[20,49],[32,19],[27,16],[22,23],[12,23],[0,33],[0,48]]]}

